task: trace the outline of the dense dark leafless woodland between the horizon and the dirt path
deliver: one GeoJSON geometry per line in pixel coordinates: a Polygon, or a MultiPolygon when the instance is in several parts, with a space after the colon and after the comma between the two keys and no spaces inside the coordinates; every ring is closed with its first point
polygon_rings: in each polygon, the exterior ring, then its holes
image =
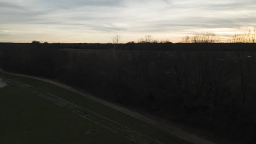
{"type": "Polygon", "coordinates": [[[0,68],[253,143],[255,53],[248,43],[0,43],[0,68]]]}

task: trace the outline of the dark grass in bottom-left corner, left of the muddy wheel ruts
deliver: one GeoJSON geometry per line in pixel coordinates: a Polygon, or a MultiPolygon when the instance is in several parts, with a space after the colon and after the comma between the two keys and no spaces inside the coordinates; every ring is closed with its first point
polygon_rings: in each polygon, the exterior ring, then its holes
{"type": "Polygon", "coordinates": [[[0,89],[0,143],[133,143],[26,89],[0,89]]]}

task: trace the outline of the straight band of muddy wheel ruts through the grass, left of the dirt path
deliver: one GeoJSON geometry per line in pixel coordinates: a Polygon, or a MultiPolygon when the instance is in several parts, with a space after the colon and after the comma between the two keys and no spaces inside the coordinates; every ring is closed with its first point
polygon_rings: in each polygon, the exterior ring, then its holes
{"type": "Polygon", "coordinates": [[[139,133],[139,131],[136,131],[134,129],[131,129],[123,124],[120,124],[118,122],[115,122],[111,119],[108,119],[106,117],[103,117],[101,115],[98,115],[95,112],[92,112],[88,109],[85,109],[82,106],[79,106],[77,104],[71,103],[70,101],[67,101],[65,99],[62,99],[58,97],[57,95],[51,94],[49,92],[43,91],[42,89],[38,89],[36,87],[27,85],[26,83],[22,83],[19,81],[9,81],[9,83],[26,88],[29,91],[38,94],[40,97],[52,101],[54,104],[57,104],[61,107],[65,107],[66,109],[72,110],[74,113],[77,113],[79,116],[88,119],[89,121],[92,121],[98,125],[101,125],[104,128],[107,128],[110,131],[113,131],[114,133],[117,133],[121,136],[124,136],[126,139],[129,139],[136,143],[154,143],[154,144],[164,144],[163,142],[154,139],[153,137],[143,135],[139,133]]]}

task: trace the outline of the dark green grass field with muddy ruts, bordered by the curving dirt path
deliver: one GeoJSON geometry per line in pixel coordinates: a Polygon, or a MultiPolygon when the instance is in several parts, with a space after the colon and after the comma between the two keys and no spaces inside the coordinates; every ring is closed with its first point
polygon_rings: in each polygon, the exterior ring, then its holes
{"type": "Polygon", "coordinates": [[[0,77],[0,143],[189,143],[50,83],[0,77]]]}

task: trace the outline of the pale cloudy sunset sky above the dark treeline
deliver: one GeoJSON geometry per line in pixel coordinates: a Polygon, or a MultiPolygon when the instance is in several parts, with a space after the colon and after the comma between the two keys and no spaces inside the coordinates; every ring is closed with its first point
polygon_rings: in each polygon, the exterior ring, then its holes
{"type": "Polygon", "coordinates": [[[109,43],[144,35],[177,43],[214,32],[225,42],[256,25],[256,0],[0,0],[0,42],[109,43]]]}

